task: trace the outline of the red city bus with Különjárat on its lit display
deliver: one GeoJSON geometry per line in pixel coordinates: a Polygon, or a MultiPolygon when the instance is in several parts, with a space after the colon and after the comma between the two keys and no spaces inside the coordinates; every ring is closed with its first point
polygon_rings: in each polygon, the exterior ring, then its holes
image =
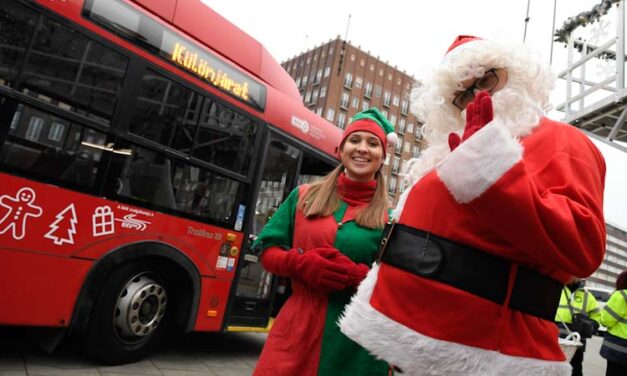
{"type": "Polygon", "coordinates": [[[112,364],[265,327],[249,239],[339,140],[198,0],[0,0],[0,325],[112,364]]]}

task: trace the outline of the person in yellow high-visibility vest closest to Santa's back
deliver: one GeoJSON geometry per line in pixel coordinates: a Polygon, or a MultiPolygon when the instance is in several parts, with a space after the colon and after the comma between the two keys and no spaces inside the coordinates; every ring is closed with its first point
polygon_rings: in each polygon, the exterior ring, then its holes
{"type": "Polygon", "coordinates": [[[564,286],[560,303],[555,313],[555,322],[560,329],[560,337],[566,337],[569,331],[579,332],[581,335],[583,346],[577,349],[570,361],[570,365],[573,367],[573,376],[583,375],[583,354],[586,351],[586,338],[592,336],[592,333],[599,328],[601,322],[599,303],[594,295],[583,288],[584,285],[585,280],[574,279],[571,283],[564,286]],[[573,325],[573,316],[578,314],[590,319],[587,320],[587,328],[573,325]]]}

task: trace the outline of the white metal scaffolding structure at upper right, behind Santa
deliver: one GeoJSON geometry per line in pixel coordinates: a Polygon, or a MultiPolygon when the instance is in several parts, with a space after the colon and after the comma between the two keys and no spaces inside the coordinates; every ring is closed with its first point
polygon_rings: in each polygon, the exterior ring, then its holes
{"type": "Polygon", "coordinates": [[[556,109],[564,113],[563,121],[627,152],[624,7],[624,1],[616,5],[616,34],[598,46],[572,33],[568,37],[568,66],[558,74],[566,81],[566,100],[556,109]],[[589,66],[599,59],[615,63],[612,74],[595,76],[589,66]]]}

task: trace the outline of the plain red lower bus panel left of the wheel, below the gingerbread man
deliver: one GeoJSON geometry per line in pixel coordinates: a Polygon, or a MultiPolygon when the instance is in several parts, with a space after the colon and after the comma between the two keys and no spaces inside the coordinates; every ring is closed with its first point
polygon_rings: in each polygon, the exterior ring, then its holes
{"type": "Polygon", "coordinates": [[[0,249],[0,324],[68,326],[88,260],[0,249]]]}

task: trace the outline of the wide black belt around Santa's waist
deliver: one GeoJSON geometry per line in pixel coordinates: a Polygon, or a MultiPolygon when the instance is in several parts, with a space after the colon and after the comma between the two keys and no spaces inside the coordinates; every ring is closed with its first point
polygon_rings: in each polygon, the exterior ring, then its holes
{"type": "MultiPolygon", "coordinates": [[[[401,224],[386,226],[379,260],[420,277],[433,279],[504,304],[511,261],[401,224]]],[[[553,321],[563,285],[519,265],[509,306],[553,321]]]]}

